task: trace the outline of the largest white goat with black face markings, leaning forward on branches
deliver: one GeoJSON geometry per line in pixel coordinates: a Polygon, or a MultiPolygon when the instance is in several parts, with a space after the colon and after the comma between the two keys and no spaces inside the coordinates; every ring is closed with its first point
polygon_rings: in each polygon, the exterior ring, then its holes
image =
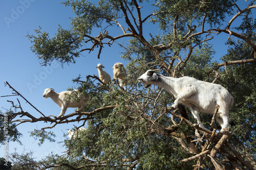
{"type": "Polygon", "coordinates": [[[181,103],[187,106],[197,119],[200,127],[204,128],[198,111],[213,114],[215,106],[220,105],[216,120],[221,126],[221,131],[229,126],[229,109],[233,106],[233,97],[221,85],[208,83],[191,77],[173,78],[157,74],[154,70],[147,70],[138,78],[144,87],[151,84],[164,88],[174,95],[176,100],[172,105],[177,108],[181,103]]]}

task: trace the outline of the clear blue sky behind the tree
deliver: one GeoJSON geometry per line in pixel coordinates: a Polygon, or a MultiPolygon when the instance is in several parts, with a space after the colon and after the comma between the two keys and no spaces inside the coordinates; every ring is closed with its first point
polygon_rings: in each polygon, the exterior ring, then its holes
{"type": "MultiPolygon", "coordinates": [[[[34,34],[34,30],[38,29],[38,26],[49,32],[50,36],[54,36],[57,32],[58,25],[64,29],[69,29],[69,17],[74,17],[74,13],[71,7],[65,7],[60,2],[62,1],[6,0],[0,2],[0,96],[11,94],[11,89],[4,86],[4,82],[8,81],[12,87],[45,115],[59,115],[60,113],[60,108],[50,98],[48,100],[42,98],[42,93],[46,88],[54,88],[56,92],[60,92],[65,91],[69,87],[75,87],[76,84],[73,84],[72,79],[76,78],[79,74],[84,80],[87,75],[97,75],[98,71],[95,67],[98,63],[103,64],[105,66],[104,70],[109,72],[113,78],[111,68],[114,63],[123,62],[126,64],[120,57],[121,49],[118,45],[114,45],[112,48],[104,47],[100,59],[97,59],[96,49],[90,54],[87,52],[83,53],[84,57],[77,58],[75,64],[64,65],[63,68],[59,63],[54,64],[51,68],[47,68],[47,70],[45,67],[40,66],[39,60],[30,50],[32,44],[26,35],[27,33],[34,34]],[[35,86],[33,88],[28,87],[31,84],[35,86]]],[[[241,0],[240,3],[243,3],[243,7],[248,4],[244,0],[241,0]]],[[[97,35],[98,32],[93,34],[93,36],[97,35]]],[[[227,40],[228,36],[221,34],[221,36],[215,37],[214,48],[217,51],[216,59],[218,61],[226,52],[224,41],[227,40]]],[[[4,107],[0,108],[0,110],[3,112],[5,112],[5,109],[10,108],[10,103],[7,100],[17,103],[16,97],[0,98],[1,107],[4,107]]],[[[31,106],[26,104],[24,100],[19,99],[19,101],[24,111],[29,112],[35,117],[41,116],[31,106]]],[[[71,112],[74,112],[74,109],[68,109],[66,114],[71,112]]],[[[38,147],[38,141],[30,137],[28,132],[50,125],[46,123],[25,123],[19,125],[18,129],[23,133],[23,137],[20,138],[23,145],[10,142],[9,153],[13,153],[14,148],[16,148],[18,153],[22,153],[24,149],[25,152],[30,150],[35,152],[34,157],[37,157],[37,159],[43,158],[51,152],[62,155],[61,152],[66,150],[62,148],[62,143],[57,142],[63,141],[63,132],[67,133],[66,129],[71,129],[74,125],[79,126],[80,124],[57,125],[54,129],[51,129],[57,135],[56,142],[47,141],[41,147],[38,147]]],[[[1,146],[0,157],[4,156],[3,150],[4,147],[1,146]]]]}

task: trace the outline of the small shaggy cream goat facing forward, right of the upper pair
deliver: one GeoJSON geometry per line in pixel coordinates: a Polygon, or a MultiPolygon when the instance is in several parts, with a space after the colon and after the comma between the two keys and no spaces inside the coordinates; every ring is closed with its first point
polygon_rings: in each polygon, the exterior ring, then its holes
{"type": "Polygon", "coordinates": [[[120,86],[124,86],[124,89],[126,89],[126,83],[124,78],[127,76],[126,75],[126,70],[123,66],[122,63],[115,63],[114,66],[112,67],[113,69],[113,74],[114,74],[114,79],[116,79],[116,82],[120,81],[120,86]]]}

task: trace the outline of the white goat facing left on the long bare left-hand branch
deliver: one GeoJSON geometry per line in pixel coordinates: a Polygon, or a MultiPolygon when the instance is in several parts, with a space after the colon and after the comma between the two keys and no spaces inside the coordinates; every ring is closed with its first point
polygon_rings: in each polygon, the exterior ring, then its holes
{"type": "MultiPolygon", "coordinates": [[[[74,90],[77,92],[77,90],[74,90]]],[[[42,96],[44,98],[51,98],[53,102],[55,102],[59,107],[61,107],[61,111],[58,117],[63,117],[67,108],[75,108],[78,107],[78,111],[82,111],[84,106],[89,102],[90,98],[86,98],[85,96],[78,96],[80,98],[79,102],[76,102],[74,98],[71,97],[70,100],[67,99],[67,95],[71,94],[72,91],[62,91],[60,93],[56,93],[53,88],[45,89],[44,94],[42,96]]]]}

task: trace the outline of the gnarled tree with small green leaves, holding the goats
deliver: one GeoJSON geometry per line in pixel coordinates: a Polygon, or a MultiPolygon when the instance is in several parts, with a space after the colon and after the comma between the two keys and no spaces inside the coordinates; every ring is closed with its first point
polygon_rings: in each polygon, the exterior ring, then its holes
{"type": "MultiPolygon", "coordinates": [[[[89,93],[91,101],[84,112],[66,113],[60,118],[43,113],[34,117],[12,101],[15,109],[5,114],[15,127],[11,136],[14,141],[20,136],[19,124],[52,123],[32,133],[40,142],[53,140],[54,134],[48,130],[59,124],[81,121],[82,126],[88,126],[82,138],[65,140],[68,150],[63,156],[37,162],[24,155],[14,157],[20,162],[27,159],[39,169],[255,169],[254,1],[245,9],[230,0],[94,3],[63,2],[76,14],[72,28],[59,27],[52,38],[41,28],[35,30],[36,35],[27,35],[33,44],[31,50],[42,65],[53,60],[63,64],[74,63],[82,53],[96,49],[101,58],[105,45],[119,42],[120,57],[129,61],[127,89],[114,83],[99,86],[97,83],[102,82],[96,76],[74,79],[81,91],[89,93]],[[234,25],[238,17],[242,21],[234,25]],[[103,32],[95,33],[97,27],[103,32]],[[120,29],[120,35],[116,35],[116,29],[120,29]],[[223,41],[229,50],[218,63],[212,59],[218,49],[210,43],[220,35],[228,35],[223,41]],[[129,44],[121,43],[124,40],[129,44]],[[158,87],[143,89],[138,84],[137,78],[145,70],[159,68],[166,76],[190,76],[226,87],[235,101],[230,111],[230,131],[216,133],[220,128],[211,115],[201,118],[206,129],[200,128],[184,106],[176,110],[169,107],[174,102],[172,95],[158,87]],[[201,137],[194,136],[196,129],[201,137]]],[[[6,85],[14,91],[12,95],[28,101],[15,87],[8,82],[6,85]]],[[[28,165],[20,162],[13,167],[28,165]]]]}

